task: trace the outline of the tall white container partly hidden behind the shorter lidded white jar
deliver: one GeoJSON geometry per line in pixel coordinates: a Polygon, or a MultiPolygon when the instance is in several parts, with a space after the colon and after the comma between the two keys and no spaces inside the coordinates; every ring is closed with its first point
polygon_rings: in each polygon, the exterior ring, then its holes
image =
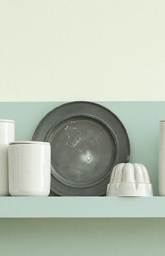
{"type": "Polygon", "coordinates": [[[15,140],[15,121],[0,120],[0,196],[9,195],[8,146],[15,140]]]}

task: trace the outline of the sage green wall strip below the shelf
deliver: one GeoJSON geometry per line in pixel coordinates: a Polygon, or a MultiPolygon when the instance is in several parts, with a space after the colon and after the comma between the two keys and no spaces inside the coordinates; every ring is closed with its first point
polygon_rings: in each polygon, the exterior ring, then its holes
{"type": "Polygon", "coordinates": [[[0,220],[2,256],[164,256],[164,219],[0,220]]]}

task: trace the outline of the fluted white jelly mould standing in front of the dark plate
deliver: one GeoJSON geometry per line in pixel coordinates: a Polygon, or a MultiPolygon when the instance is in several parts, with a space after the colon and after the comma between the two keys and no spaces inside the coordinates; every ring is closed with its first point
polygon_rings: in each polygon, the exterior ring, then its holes
{"type": "Polygon", "coordinates": [[[153,196],[146,167],[139,163],[114,166],[107,186],[107,196],[153,196]]]}

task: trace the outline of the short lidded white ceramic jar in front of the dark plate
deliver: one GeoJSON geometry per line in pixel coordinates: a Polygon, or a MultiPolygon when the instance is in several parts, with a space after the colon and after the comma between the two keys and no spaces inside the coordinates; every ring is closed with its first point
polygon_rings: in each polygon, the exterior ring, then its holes
{"type": "Polygon", "coordinates": [[[51,186],[51,145],[15,141],[9,145],[9,193],[12,196],[48,196],[51,186]]]}

